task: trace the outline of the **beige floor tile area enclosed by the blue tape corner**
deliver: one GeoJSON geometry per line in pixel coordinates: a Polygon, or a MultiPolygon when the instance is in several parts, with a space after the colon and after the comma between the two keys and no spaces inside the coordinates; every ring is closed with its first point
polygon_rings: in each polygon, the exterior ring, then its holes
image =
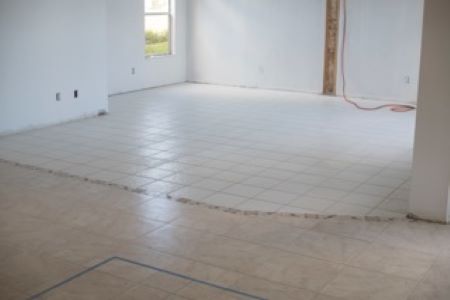
{"type": "Polygon", "coordinates": [[[241,299],[265,300],[232,287],[121,257],[111,257],[33,295],[35,299],[241,299]],[[119,295],[119,296],[117,296],[119,295]],[[186,296],[186,297],[184,297],[186,296]]]}

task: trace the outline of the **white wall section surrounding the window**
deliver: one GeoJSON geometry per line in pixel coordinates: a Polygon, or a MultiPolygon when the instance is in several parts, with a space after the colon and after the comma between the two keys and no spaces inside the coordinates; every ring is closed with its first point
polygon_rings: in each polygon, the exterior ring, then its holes
{"type": "Polygon", "coordinates": [[[175,52],[146,58],[144,0],[107,0],[109,94],[186,81],[186,1],[175,5],[175,52]],[[135,68],[135,74],[132,74],[135,68]]]}

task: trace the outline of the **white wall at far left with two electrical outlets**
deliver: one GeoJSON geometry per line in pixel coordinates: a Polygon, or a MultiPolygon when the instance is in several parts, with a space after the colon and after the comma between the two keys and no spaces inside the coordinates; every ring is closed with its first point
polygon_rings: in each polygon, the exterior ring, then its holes
{"type": "Polygon", "coordinates": [[[0,1],[0,134],[107,109],[105,8],[104,0],[0,1]]]}

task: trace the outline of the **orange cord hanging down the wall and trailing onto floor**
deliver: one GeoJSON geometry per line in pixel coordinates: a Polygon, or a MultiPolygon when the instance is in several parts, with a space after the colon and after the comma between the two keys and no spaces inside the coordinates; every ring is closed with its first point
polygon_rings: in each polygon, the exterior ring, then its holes
{"type": "Polygon", "coordinates": [[[342,51],[341,51],[341,76],[342,76],[342,94],[344,97],[344,100],[347,101],[348,103],[352,104],[353,106],[355,106],[357,109],[360,110],[365,110],[365,111],[375,111],[375,110],[380,110],[383,108],[390,108],[391,111],[393,112],[408,112],[408,111],[412,111],[415,110],[416,107],[413,105],[406,105],[406,104],[384,104],[384,105],[380,105],[380,106],[376,106],[376,107],[363,107],[361,105],[359,105],[357,102],[351,100],[348,96],[347,96],[347,82],[346,82],[346,78],[345,78],[345,47],[346,47],[346,43],[347,43],[347,0],[343,0],[343,5],[344,5],[344,12],[343,12],[343,16],[344,16],[344,25],[343,25],[343,33],[342,33],[342,51]]]}

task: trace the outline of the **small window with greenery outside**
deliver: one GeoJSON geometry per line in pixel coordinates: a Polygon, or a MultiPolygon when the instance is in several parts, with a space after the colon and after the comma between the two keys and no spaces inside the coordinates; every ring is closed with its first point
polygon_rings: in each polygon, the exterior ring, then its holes
{"type": "Polygon", "coordinates": [[[171,0],[145,0],[145,55],[172,54],[171,0]]]}

